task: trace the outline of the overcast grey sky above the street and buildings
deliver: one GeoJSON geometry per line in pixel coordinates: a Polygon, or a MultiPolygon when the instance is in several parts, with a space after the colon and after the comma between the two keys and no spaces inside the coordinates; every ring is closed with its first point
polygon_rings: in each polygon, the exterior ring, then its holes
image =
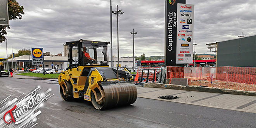
{"type": "MultiPolygon", "coordinates": [[[[22,20],[10,21],[8,54],[31,47],[57,54],[67,41],[79,39],[110,41],[110,0],[17,0],[24,7],[22,20]]],[[[208,53],[207,43],[256,34],[255,0],[186,0],[195,5],[194,41],[196,53],[208,53]]],[[[165,0],[112,0],[124,12],[119,17],[120,57],[135,53],[146,57],[164,55],[165,0]]],[[[112,15],[113,55],[117,56],[117,20],[112,15]]],[[[110,50],[110,45],[109,45],[110,50]]],[[[194,51],[194,50],[193,50],[194,51]]],[[[63,54],[63,53],[62,53],[63,54]]],[[[108,53],[110,54],[110,52],[108,53]]],[[[0,44],[6,57],[6,43],[0,44]]],[[[109,55],[110,57],[110,55],[109,55]]]]}

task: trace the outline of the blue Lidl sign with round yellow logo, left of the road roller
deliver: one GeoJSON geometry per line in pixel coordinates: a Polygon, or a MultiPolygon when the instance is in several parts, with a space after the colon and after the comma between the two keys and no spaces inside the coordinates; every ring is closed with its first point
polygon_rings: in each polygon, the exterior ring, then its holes
{"type": "Polygon", "coordinates": [[[43,64],[43,48],[31,48],[32,64],[43,64]]]}

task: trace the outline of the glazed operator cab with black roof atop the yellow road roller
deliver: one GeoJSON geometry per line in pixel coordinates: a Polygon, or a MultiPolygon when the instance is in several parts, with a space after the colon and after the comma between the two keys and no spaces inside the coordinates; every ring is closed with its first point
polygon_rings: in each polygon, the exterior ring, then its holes
{"type": "Polygon", "coordinates": [[[99,42],[92,40],[77,40],[73,42],[66,42],[69,45],[69,64],[79,65],[79,66],[108,66],[107,64],[107,45],[110,42],[99,42]],[[95,61],[89,60],[85,56],[86,52],[90,55],[90,58],[95,59],[95,61]],[[103,59],[99,59],[99,57],[103,59]],[[98,64],[97,62],[100,62],[98,64]]]}

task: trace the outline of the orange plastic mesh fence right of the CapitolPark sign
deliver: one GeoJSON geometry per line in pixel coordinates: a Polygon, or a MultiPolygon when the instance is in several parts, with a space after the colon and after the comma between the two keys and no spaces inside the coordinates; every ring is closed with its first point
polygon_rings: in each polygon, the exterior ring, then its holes
{"type": "Polygon", "coordinates": [[[191,86],[256,91],[256,67],[173,67],[167,66],[166,80],[187,78],[191,86]]]}

